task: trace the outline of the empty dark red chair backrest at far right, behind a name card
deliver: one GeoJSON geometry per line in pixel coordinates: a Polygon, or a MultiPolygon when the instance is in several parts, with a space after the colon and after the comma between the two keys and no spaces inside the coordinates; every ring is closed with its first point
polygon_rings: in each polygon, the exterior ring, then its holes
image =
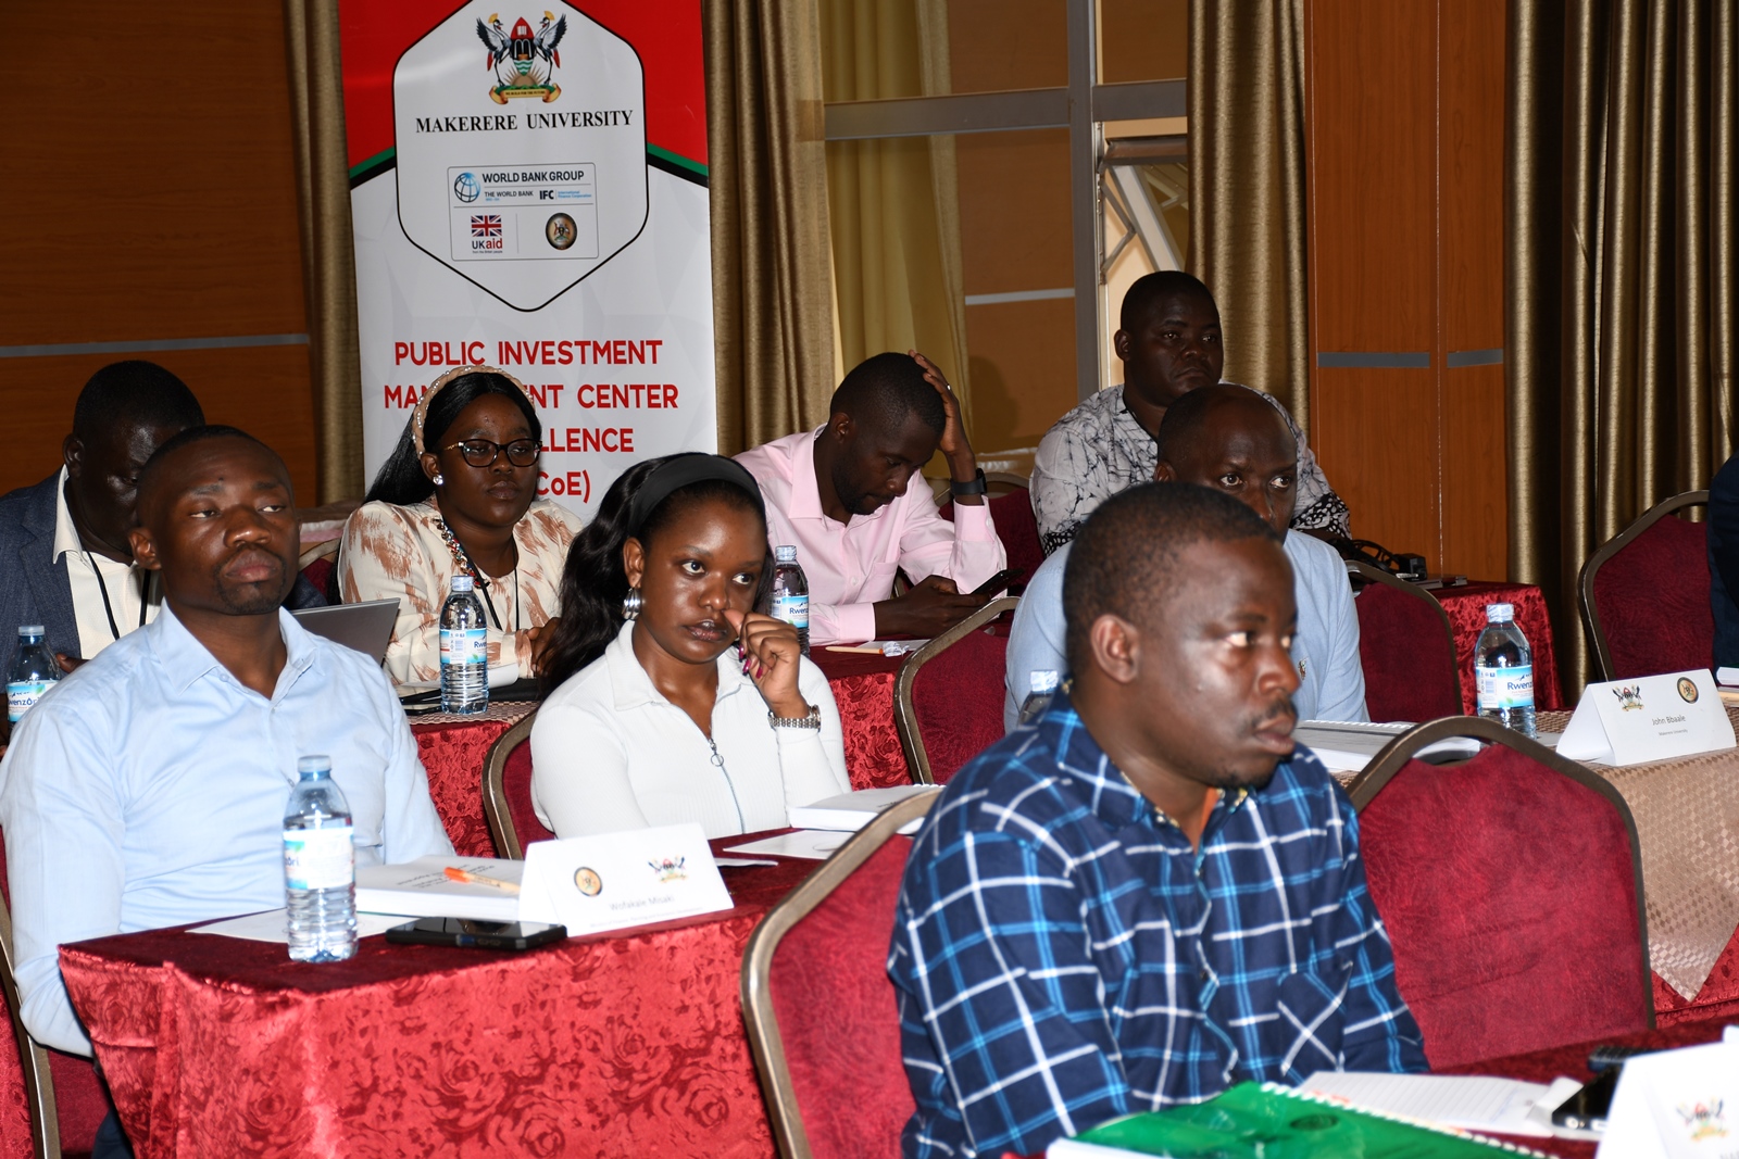
{"type": "Polygon", "coordinates": [[[1662,499],[1582,565],[1576,601],[1600,679],[1715,664],[1708,523],[1666,518],[1708,502],[1708,492],[1662,499]]]}

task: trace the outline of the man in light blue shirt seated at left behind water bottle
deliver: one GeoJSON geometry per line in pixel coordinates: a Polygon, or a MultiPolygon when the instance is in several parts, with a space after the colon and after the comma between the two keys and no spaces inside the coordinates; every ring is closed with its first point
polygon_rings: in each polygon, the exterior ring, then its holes
{"type": "Polygon", "coordinates": [[[24,1025],[90,1055],[57,947],[283,905],[296,759],[329,754],[358,864],[452,853],[391,686],[280,608],[297,523],[283,462],[233,427],[191,427],[139,480],[139,565],[163,610],[19,723],[0,825],[24,1025]]]}

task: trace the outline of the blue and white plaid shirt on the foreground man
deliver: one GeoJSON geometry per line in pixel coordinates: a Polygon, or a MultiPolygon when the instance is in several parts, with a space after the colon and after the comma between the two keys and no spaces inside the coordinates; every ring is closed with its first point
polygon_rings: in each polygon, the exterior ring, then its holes
{"type": "Polygon", "coordinates": [[[1224,794],[1196,851],[1066,695],[936,803],[889,975],[906,1156],[1036,1154],[1245,1079],[1426,1067],[1351,801],[1316,758],[1224,794]]]}

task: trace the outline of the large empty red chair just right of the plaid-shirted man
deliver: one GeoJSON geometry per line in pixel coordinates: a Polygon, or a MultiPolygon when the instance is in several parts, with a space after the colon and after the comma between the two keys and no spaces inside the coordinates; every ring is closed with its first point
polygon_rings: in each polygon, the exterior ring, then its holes
{"type": "Polygon", "coordinates": [[[1433,1069],[1654,1025],[1636,822],[1605,778],[1457,716],[1396,737],[1348,792],[1433,1069]],[[1489,744],[1414,758],[1447,737],[1489,744]]]}

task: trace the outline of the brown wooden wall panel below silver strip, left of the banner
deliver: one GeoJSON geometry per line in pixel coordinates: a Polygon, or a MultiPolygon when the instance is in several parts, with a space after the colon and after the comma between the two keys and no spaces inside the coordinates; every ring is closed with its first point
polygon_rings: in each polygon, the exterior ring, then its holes
{"type": "MultiPolygon", "coordinates": [[[[0,358],[0,414],[7,417],[9,450],[0,460],[0,492],[59,469],[61,440],[73,429],[78,391],[99,367],[118,358],[0,358]]],[[[296,502],[315,506],[315,410],[306,346],[165,351],[146,358],[181,375],[209,422],[238,426],[283,455],[296,502]]]]}

